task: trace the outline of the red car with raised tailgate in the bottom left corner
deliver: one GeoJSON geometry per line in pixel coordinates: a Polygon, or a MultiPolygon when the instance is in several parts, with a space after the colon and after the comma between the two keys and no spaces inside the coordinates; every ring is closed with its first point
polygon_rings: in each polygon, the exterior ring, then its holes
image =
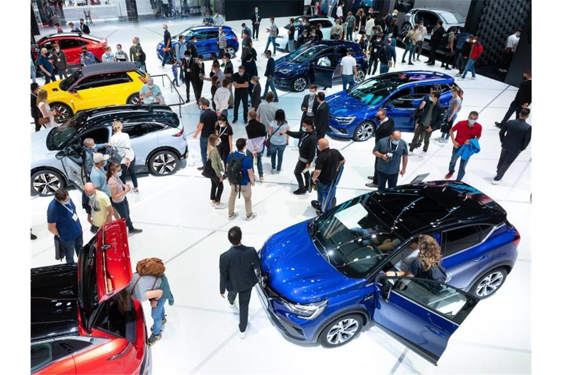
{"type": "Polygon", "coordinates": [[[124,219],[100,228],[78,264],[32,268],[31,373],[150,373],[141,303],[117,308],[131,277],[124,219]]]}

